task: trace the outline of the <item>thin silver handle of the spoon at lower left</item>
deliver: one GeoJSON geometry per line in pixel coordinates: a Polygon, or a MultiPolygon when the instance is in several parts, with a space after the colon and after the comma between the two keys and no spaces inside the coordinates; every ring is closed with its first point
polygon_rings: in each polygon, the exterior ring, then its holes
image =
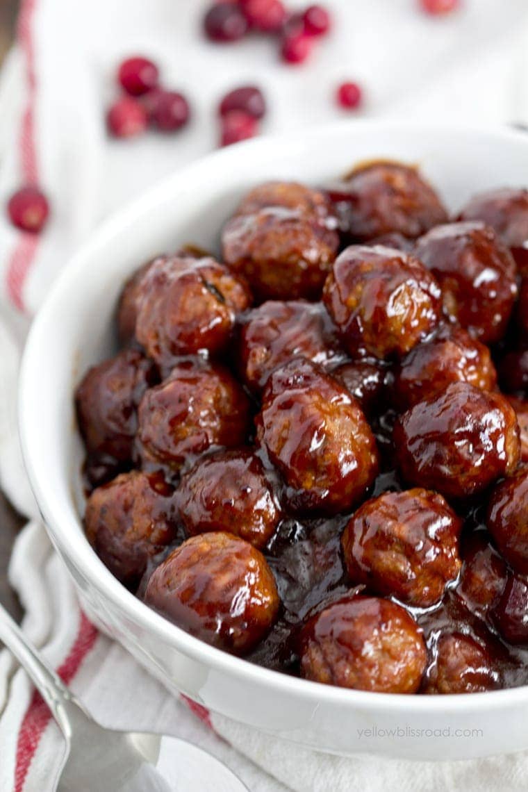
{"type": "Polygon", "coordinates": [[[35,687],[50,708],[51,714],[59,724],[64,736],[69,739],[71,728],[67,712],[72,705],[78,706],[78,702],[63,683],[63,680],[55,674],[55,671],[44,661],[44,658],[40,657],[40,654],[1,604],[0,641],[6,645],[21,666],[25,668],[28,676],[31,677],[35,687]]]}

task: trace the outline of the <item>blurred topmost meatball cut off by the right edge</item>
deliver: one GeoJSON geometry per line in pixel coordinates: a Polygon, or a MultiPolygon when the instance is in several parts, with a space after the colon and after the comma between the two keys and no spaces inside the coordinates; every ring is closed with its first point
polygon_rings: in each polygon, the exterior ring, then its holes
{"type": "Polygon", "coordinates": [[[507,247],[522,247],[528,239],[528,190],[480,192],[465,204],[459,219],[481,220],[496,231],[507,247]]]}

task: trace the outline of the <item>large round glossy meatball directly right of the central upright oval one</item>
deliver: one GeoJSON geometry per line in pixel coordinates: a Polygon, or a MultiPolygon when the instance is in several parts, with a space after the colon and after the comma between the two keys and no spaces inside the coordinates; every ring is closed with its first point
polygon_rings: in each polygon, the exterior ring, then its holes
{"type": "Polygon", "coordinates": [[[405,481],[448,498],[480,493],[519,463],[513,408],[469,383],[451,383],[417,402],[397,419],[393,441],[405,481]]]}

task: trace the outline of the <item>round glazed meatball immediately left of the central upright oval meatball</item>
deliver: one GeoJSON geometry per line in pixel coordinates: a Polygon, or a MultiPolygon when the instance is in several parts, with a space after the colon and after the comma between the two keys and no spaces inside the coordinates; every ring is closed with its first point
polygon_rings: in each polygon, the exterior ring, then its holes
{"type": "Polygon", "coordinates": [[[185,460],[211,446],[243,445],[249,401],[225,368],[182,360],[139,405],[137,447],[143,466],[177,472],[185,460]]]}

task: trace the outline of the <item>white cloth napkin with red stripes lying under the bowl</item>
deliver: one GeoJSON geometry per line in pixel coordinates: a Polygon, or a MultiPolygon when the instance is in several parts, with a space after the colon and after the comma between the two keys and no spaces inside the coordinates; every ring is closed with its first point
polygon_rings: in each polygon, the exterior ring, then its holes
{"type": "MultiPolygon", "coordinates": [[[[420,13],[416,0],[327,5],[335,17],[332,36],[306,66],[285,67],[271,41],[204,42],[199,20],[206,0],[23,0],[19,42],[0,83],[0,204],[36,178],[52,215],[38,238],[0,216],[0,481],[32,518],[17,539],[10,581],[26,609],[24,629],[101,722],[196,741],[252,792],[283,785],[298,792],[526,790],[528,754],[458,763],[341,759],[216,715],[201,713],[210,725],[200,722],[81,614],[22,470],[16,379],[28,317],[97,223],[215,147],[215,105],[226,89],[257,82],[270,106],[264,130],[298,128],[299,135],[307,124],[339,116],[332,95],[343,79],[363,84],[367,116],[528,123],[526,0],[465,0],[459,13],[436,19],[420,13]],[[153,55],[165,83],[188,93],[193,120],[180,134],[130,142],[105,135],[116,63],[135,52],[153,55]]],[[[60,752],[58,730],[25,673],[0,653],[0,789],[47,792],[60,752]]]]}

